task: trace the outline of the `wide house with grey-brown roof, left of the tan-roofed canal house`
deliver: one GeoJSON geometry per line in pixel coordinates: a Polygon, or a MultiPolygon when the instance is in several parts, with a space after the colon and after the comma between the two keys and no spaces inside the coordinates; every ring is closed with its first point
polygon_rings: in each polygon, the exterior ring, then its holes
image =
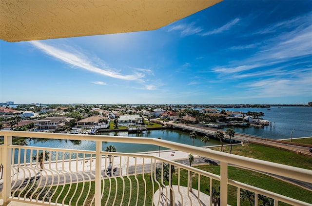
{"type": "Polygon", "coordinates": [[[42,120],[33,121],[35,126],[38,126],[39,129],[56,129],[57,125],[63,123],[69,125],[70,121],[74,119],[71,117],[46,117],[42,120]]]}

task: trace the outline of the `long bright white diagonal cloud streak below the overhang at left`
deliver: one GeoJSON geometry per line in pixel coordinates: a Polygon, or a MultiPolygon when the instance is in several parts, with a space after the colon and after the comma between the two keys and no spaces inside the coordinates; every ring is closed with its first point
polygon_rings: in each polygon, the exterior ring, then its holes
{"type": "Polygon", "coordinates": [[[90,58],[81,54],[75,49],[65,50],[42,43],[40,41],[30,41],[30,43],[44,53],[48,54],[49,56],[54,57],[59,61],[68,63],[71,66],[82,68],[89,72],[97,73],[111,78],[144,82],[142,79],[144,77],[143,73],[136,73],[136,75],[122,75],[114,71],[113,68],[109,68],[106,65],[103,66],[104,68],[99,68],[96,62],[90,61],[90,58]]]}

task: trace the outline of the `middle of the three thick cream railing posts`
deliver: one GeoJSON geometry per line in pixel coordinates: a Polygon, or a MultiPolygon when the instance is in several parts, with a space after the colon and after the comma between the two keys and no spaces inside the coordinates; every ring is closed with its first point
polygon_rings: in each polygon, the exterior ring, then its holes
{"type": "Polygon", "coordinates": [[[95,206],[101,205],[102,142],[96,141],[95,206]]]}

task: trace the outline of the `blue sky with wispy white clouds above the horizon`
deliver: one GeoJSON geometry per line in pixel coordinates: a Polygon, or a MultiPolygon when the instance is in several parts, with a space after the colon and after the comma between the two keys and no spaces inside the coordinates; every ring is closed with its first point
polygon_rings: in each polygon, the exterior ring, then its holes
{"type": "Polygon", "coordinates": [[[154,31],[0,41],[0,102],[312,101],[312,1],[222,1],[154,31]]]}

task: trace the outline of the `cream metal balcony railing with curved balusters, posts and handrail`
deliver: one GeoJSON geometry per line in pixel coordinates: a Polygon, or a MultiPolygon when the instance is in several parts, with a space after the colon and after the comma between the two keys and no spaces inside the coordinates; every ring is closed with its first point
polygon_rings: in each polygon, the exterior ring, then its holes
{"type": "Polygon", "coordinates": [[[18,131],[0,131],[0,136],[4,136],[4,144],[0,145],[0,163],[3,165],[0,201],[4,205],[11,201],[20,205],[132,206],[175,203],[226,206],[230,199],[230,187],[235,188],[236,205],[240,205],[241,199],[238,197],[242,190],[254,193],[255,206],[259,204],[261,196],[272,198],[275,206],[279,202],[295,206],[311,205],[228,178],[228,169],[235,165],[311,182],[312,171],[307,169],[154,138],[18,131]],[[12,145],[12,137],[89,140],[96,142],[96,150],[12,145]],[[103,151],[102,142],[142,146],[154,144],[185,152],[186,155],[192,153],[218,161],[220,175],[159,156],[103,151]],[[190,185],[192,192],[189,191],[190,185]],[[219,188],[214,185],[219,185],[219,188]]]}

